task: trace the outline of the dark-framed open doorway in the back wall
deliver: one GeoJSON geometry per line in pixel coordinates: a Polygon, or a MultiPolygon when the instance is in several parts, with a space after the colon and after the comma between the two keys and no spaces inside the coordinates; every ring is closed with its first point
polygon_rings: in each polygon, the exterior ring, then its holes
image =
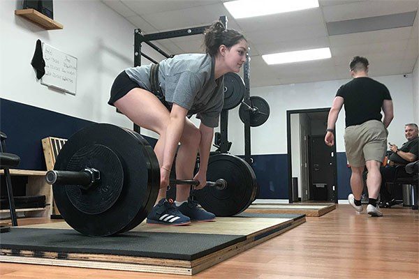
{"type": "Polygon", "coordinates": [[[329,107],[287,111],[290,203],[337,203],[336,145],[324,143],[329,111],[329,107]]]}

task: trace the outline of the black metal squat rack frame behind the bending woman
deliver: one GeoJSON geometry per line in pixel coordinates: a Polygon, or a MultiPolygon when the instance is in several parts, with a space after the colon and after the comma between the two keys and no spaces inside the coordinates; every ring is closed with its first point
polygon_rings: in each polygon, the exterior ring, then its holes
{"type": "MultiPolygon", "coordinates": [[[[219,21],[227,28],[227,17],[225,15],[219,17],[219,21]]],[[[144,56],[149,61],[153,63],[158,63],[156,60],[152,59],[149,55],[143,53],[141,51],[142,43],[146,43],[150,47],[152,47],[156,52],[159,52],[161,55],[165,56],[166,58],[173,57],[174,55],[168,54],[165,51],[161,50],[160,47],[152,43],[154,40],[163,40],[169,38],[177,38],[177,37],[184,37],[184,36],[192,36],[204,33],[205,29],[207,29],[209,25],[205,25],[202,27],[191,27],[186,29],[177,29],[172,31],[165,31],[159,33],[151,33],[144,35],[141,29],[135,29],[134,33],[134,66],[141,66],[141,56],[144,56]]],[[[251,105],[250,101],[250,53],[247,56],[246,63],[244,63],[244,99],[243,102],[247,103],[247,105],[251,105]]],[[[251,145],[250,145],[250,111],[247,111],[244,117],[244,160],[251,165],[251,145]]],[[[228,110],[221,111],[221,120],[220,120],[220,128],[221,128],[221,144],[220,144],[220,151],[221,153],[228,153],[228,110]]],[[[140,127],[134,123],[134,130],[137,133],[140,133],[140,127]]]]}

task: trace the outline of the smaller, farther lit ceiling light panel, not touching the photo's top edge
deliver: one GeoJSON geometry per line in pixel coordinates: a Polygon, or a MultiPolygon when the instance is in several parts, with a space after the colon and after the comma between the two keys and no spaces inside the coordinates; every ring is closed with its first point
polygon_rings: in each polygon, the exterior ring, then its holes
{"type": "Polygon", "coordinates": [[[311,61],[330,57],[332,57],[332,54],[330,53],[329,47],[262,55],[263,60],[265,60],[268,65],[311,61]]]}

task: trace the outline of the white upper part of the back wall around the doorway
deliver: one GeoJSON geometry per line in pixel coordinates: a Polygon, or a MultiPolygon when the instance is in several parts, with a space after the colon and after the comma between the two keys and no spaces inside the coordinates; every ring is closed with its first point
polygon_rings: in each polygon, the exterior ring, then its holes
{"type": "MultiPolygon", "coordinates": [[[[404,123],[413,121],[413,79],[411,75],[407,77],[390,75],[374,77],[374,79],[388,87],[395,107],[395,119],[388,128],[388,138],[391,142],[402,144],[406,141],[404,138],[404,123]]],[[[265,98],[270,104],[271,113],[270,118],[263,126],[251,129],[251,153],[287,153],[286,111],[330,107],[339,86],[348,81],[333,80],[252,88],[251,96],[265,98]]],[[[344,110],[342,109],[336,126],[338,152],[345,151],[344,118],[344,110]]],[[[229,133],[229,140],[233,142],[231,152],[233,154],[243,154],[244,128],[238,117],[237,108],[230,111],[229,133]]]]}

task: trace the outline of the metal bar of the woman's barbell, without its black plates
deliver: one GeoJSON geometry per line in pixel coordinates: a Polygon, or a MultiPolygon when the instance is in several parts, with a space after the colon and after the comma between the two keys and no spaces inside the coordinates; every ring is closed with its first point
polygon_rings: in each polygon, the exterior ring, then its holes
{"type": "MultiPolygon", "coordinates": [[[[96,169],[84,169],[80,172],[68,172],[65,170],[50,170],[47,172],[45,179],[48,184],[64,184],[64,185],[77,185],[87,189],[93,185],[94,182],[98,182],[100,178],[94,172],[98,172],[96,169]]],[[[192,179],[170,179],[170,185],[175,184],[189,184],[199,185],[198,180],[192,179]]],[[[227,187],[227,182],[224,179],[217,179],[215,182],[207,181],[207,185],[215,187],[219,190],[223,190],[227,187]]]]}

